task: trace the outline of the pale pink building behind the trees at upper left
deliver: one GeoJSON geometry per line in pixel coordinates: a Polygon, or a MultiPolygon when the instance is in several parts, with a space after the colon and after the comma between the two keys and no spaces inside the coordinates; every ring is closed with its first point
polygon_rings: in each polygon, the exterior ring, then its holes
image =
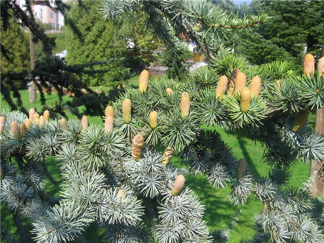
{"type": "MultiPolygon", "coordinates": [[[[52,29],[60,30],[64,25],[64,17],[60,13],[54,12],[48,7],[45,1],[30,1],[35,18],[45,24],[50,24],[52,29]]],[[[20,8],[25,9],[26,0],[17,0],[20,8]]],[[[54,6],[52,1],[51,5],[54,6]]]]}

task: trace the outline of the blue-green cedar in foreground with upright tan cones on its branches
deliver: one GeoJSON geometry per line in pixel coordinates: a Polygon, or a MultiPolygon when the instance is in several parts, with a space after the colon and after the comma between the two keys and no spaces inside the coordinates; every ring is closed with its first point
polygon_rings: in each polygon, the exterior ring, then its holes
{"type": "Polygon", "coordinates": [[[262,18],[229,19],[209,2],[101,4],[101,12],[113,18],[134,8],[143,8],[154,33],[167,36],[165,44],[180,55],[186,52],[177,41],[182,29],[211,65],[185,82],[149,79],[144,70],[139,89],[126,90],[106,107],[102,126],[89,126],[87,116],[66,121],[33,109],[28,119],[20,111],[2,112],[1,200],[16,215],[21,240],[29,240],[24,216],[37,242],[73,240],[93,222],[105,229],[107,242],[212,242],[204,206],[185,187],[186,175],[169,163],[175,153],[190,173],[206,176],[216,189],[230,186],[232,204],[245,204],[251,193],[262,201],[257,234],[245,242],[321,242],[323,201],[286,185],[297,159],[324,159],[324,136],[306,127],[307,110],[324,107],[323,67],[315,71],[308,55],[300,75],[288,62],[252,67],[227,54],[216,36],[262,18]],[[208,126],[229,126],[262,141],[268,176],[256,177],[208,126]],[[46,167],[40,166],[51,156],[62,172],[60,199],[44,192],[46,167]]]}

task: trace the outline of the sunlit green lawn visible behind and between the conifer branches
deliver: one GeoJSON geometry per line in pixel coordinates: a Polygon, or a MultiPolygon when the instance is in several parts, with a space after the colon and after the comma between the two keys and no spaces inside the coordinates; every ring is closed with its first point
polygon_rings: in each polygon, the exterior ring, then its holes
{"type": "MultiPolygon", "coordinates": [[[[130,83],[136,83],[138,77],[133,77],[130,80],[130,83]]],[[[35,107],[37,110],[42,110],[42,104],[38,100],[36,103],[29,104],[29,94],[27,90],[21,91],[23,105],[28,110],[31,107],[35,107]]],[[[46,96],[46,104],[51,105],[51,103],[55,103],[58,100],[57,94],[46,96]]],[[[71,99],[69,97],[63,97],[63,100],[66,101],[71,99]]],[[[1,99],[1,109],[8,108],[7,102],[1,99]]],[[[80,108],[82,109],[82,107],[80,108]]],[[[75,118],[72,114],[68,115],[69,119],[75,118]]],[[[89,122],[94,124],[102,124],[102,119],[100,116],[88,116],[89,122]]],[[[252,141],[249,138],[245,138],[238,135],[228,135],[226,129],[224,128],[216,128],[216,130],[221,134],[222,139],[228,143],[230,147],[233,148],[233,153],[238,158],[244,157],[247,159],[249,167],[254,172],[255,175],[266,176],[269,171],[269,166],[265,165],[262,161],[262,155],[264,152],[264,148],[262,148],[260,142],[252,141]]],[[[181,164],[177,158],[173,158],[171,160],[177,167],[185,168],[184,164],[181,164]]],[[[51,158],[46,161],[49,171],[52,176],[58,181],[57,185],[53,185],[49,180],[46,181],[46,191],[50,196],[59,196],[59,183],[61,182],[60,170],[58,166],[58,162],[51,158]]],[[[300,161],[297,161],[296,165],[291,167],[292,178],[290,179],[290,186],[294,187],[302,187],[303,182],[306,182],[308,179],[310,165],[305,165],[300,161]]],[[[203,176],[186,176],[185,186],[191,187],[197,196],[200,198],[201,203],[206,206],[205,212],[205,220],[211,231],[227,229],[229,224],[233,221],[233,218],[240,210],[240,213],[237,216],[236,224],[234,224],[233,228],[230,231],[230,237],[228,242],[236,243],[239,242],[240,239],[249,239],[255,233],[254,227],[254,215],[257,214],[260,210],[262,210],[262,203],[258,199],[256,199],[253,195],[251,195],[248,199],[246,205],[241,206],[233,206],[229,203],[229,200],[226,198],[230,192],[230,185],[224,189],[216,189],[212,185],[210,185],[207,179],[203,176]]],[[[1,214],[2,222],[8,222],[11,231],[14,232],[15,227],[10,223],[10,219],[12,216],[8,211],[1,205],[1,210],[3,214],[1,214]],[[3,221],[4,220],[4,221],[3,221]]],[[[6,224],[7,225],[7,224],[6,224]]],[[[103,240],[103,231],[98,228],[96,224],[92,224],[86,231],[84,237],[88,242],[104,242],[103,240]]]]}

